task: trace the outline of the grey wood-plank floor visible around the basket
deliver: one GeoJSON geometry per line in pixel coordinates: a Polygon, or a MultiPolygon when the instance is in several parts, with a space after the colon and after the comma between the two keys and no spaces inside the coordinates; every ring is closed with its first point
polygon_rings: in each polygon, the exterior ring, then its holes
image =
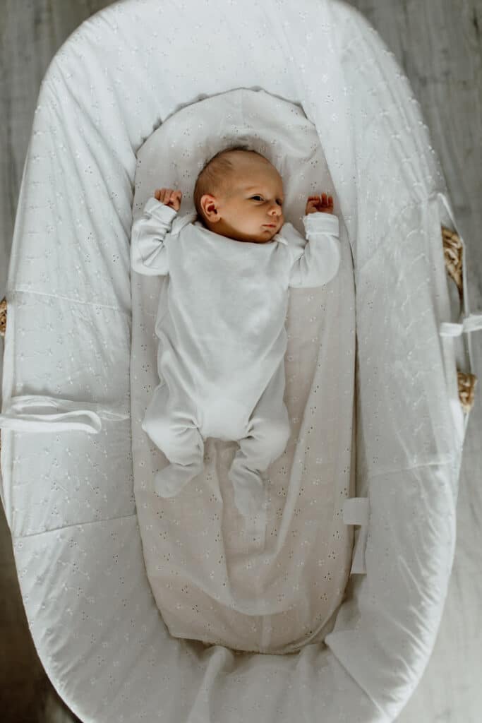
{"type": "MultiPolygon", "coordinates": [[[[0,299],[40,81],[64,40],[108,4],[0,0],[0,299]]],[[[470,308],[482,312],[482,0],[350,4],[395,53],[421,103],[467,246],[470,308]]],[[[482,720],[482,333],[472,338],[480,382],[465,440],[454,568],[434,653],[400,723],[482,720]]],[[[0,369],[2,351],[0,342],[0,369]]],[[[0,543],[1,719],[77,720],[56,696],[36,654],[1,507],[0,543]]]]}

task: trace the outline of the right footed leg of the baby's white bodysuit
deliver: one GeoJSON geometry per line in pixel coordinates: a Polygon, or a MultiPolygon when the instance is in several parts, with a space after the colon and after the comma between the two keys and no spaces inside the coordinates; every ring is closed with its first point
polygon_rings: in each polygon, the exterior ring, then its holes
{"type": "Polygon", "coordinates": [[[283,359],[251,414],[246,437],[238,440],[239,449],[228,472],[236,508],[241,515],[259,512],[265,500],[261,473],[283,454],[288,444],[291,429],[283,401],[284,391],[283,359]]]}

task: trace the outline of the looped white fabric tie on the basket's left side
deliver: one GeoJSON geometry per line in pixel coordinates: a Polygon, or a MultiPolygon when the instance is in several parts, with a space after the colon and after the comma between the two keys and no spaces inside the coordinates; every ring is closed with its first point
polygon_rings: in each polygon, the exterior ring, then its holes
{"type": "Polygon", "coordinates": [[[74,402],[42,395],[12,397],[0,414],[0,427],[18,432],[60,432],[77,429],[95,435],[102,429],[101,419],[128,419],[122,408],[104,408],[100,404],[74,402]]]}

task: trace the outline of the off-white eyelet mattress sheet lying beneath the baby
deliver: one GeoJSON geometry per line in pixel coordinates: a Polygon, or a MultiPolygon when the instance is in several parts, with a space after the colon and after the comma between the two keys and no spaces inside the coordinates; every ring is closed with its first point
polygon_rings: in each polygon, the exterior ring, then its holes
{"type": "MultiPolygon", "coordinates": [[[[207,158],[251,139],[283,176],[285,218],[299,233],[306,234],[309,194],[330,193],[339,208],[316,128],[302,109],[262,90],[239,89],[183,108],[142,145],[134,218],[158,187],[181,189],[183,214],[192,212],[194,181],[207,158]]],[[[266,516],[260,510],[246,522],[227,476],[236,442],[208,437],[202,474],[178,497],[152,492],[155,472],[168,461],[140,423],[159,383],[154,325],[167,309],[168,278],[132,274],[134,493],[147,576],[174,636],[281,654],[321,641],[331,629],[353,544],[342,510],[354,493],[355,311],[341,218],[340,229],[335,278],[289,290],[285,403],[291,437],[267,470],[266,516]]]]}

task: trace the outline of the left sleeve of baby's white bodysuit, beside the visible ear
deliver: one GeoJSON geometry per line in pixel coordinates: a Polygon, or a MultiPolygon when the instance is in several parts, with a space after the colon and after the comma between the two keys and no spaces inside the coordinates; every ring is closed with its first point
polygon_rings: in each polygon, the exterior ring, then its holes
{"type": "Polygon", "coordinates": [[[147,276],[169,273],[164,241],[176,215],[177,211],[156,198],[147,200],[142,214],[132,224],[131,268],[134,271],[147,276]]]}

